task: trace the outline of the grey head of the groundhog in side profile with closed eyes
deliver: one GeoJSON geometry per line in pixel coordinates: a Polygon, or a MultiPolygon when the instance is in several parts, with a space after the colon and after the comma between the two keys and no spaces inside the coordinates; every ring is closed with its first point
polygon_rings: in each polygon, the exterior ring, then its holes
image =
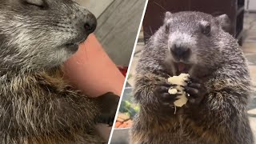
{"type": "Polygon", "coordinates": [[[97,25],[71,0],[0,0],[0,63],[34,69],[65,62],[97,25]]]}

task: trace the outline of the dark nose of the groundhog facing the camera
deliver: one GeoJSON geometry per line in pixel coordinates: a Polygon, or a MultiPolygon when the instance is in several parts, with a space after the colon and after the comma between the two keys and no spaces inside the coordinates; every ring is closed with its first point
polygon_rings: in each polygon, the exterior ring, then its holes
{"type": "Polygon", "coordinates": [[[170,47],[170,52],[174,56],[176,60],[186,60],[187,58],[190,57],[191,50],[190,48],[186,46],[171,46],[170,47]]]}

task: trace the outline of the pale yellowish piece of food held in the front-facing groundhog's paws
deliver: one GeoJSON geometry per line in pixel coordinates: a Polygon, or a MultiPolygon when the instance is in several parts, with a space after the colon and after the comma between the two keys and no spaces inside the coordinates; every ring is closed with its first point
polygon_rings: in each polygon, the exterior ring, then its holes
{"type": "Polygon", "coordinates": [[[186,92],[184,91],[184,88],[182,86],[186,86],[190,78],[190,74],[180,74],[178,76],[170,77],[168,78],[168,82],[171,84],[175,84],[177,86],[170,87],[168,90],[169,94],[181,94],[178,96],[178,100],[174,102],[174,106],[182,107],[186,104],[187,98],[186,98],[186,92]],[[179,92],[178,92],[179,91],[179,92]]]}

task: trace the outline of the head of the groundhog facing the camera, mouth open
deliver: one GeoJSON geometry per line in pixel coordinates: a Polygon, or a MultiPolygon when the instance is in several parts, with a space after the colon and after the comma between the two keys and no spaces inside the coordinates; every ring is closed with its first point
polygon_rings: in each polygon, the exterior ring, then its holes
{"type": "Polygon", "coordinates": [[[214,18],[200,12],[166,12],[162,31],[166,34],[167,56],[176,73],[210,72],[221,59],[222,35],[229,22],[226,14],[214,18]],[[202,72],[202,70],[205,70],[202,72]]]}

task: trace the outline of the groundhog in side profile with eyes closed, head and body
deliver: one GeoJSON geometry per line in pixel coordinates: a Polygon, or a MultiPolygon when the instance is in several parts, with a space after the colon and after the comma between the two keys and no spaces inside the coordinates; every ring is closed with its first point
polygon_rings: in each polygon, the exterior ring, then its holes
{"type": "Polygon", "coordinates": [[[95,30],[94,15],[71,0],[0,3],[0,143],[103,143],[94,125],[113,120],[118,97],[90,98],[62,71],[95,30]]]}

